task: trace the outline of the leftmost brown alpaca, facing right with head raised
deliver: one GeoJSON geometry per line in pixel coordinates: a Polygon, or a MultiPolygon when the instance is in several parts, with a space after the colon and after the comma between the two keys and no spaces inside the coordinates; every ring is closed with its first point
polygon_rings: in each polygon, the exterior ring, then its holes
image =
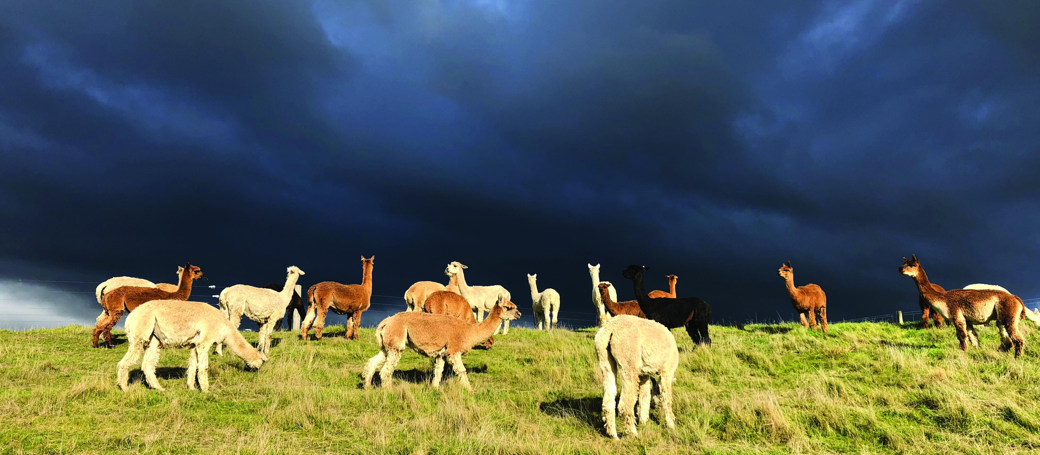
{"type": "Polygon", "coordinates": [[[140,304],[152,300],[187,300],[191,296],[191,282],[202,277],[202,269],[191,264],[184,264],[177,290],[166,292],[158,288],[140,288],[123,286],[105,293],[101,298],[101,306],[107,317],[98,321],[92,336],[94,347],[98,347],[98,337],[104,333],[106,347],[112,347],[112,327],[123,318],[123,312],[132,312],[140,304]]]}

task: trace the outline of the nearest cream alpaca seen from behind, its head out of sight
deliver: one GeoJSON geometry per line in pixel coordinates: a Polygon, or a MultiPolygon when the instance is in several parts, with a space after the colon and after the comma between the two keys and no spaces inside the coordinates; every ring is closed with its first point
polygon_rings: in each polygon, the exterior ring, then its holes
{"type": "Polygon", "coordinates": [[[672,413],[672,383],[679,367],[679,350],[675,337],[664,325],[631,315],[612,318],[594,339],[596,358],[603,379],[603,427],[606,434],[618,438],[614,417],[617,377],[621,377],[621,425],[631,436],[635,430],[634,407],[640,407],[640,424],[650,420],[651,376],[658,376],[660,408],[665,425],[675,428],[672,413]],[[636,397],[636,389],[639,396],[636,397]]]}

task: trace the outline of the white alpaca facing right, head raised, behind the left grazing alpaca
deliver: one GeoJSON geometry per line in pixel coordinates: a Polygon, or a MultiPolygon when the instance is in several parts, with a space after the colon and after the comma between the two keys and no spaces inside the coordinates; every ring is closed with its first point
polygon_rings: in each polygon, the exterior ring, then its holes
{"type": "MultiPolygon", "coordinates": [[[[275,323],[285,317],[285,309],[292,301],[296,279],[300,279],[300,275],[306,274],[296,266],[285,270],[289,274],[285,277],[285,288],[282,288],[281,292],[245,285],[235,285],[220,292],[220,311],[231,321],[235,330],[238,330],[242,322],[242,315],[260,324],[260,341],[257,347],[264,356],[270,353],[270,333],[275,331],[275,323]]],[[[216,353],[224,355],[219,344],[216,345],[216,353]]]]}

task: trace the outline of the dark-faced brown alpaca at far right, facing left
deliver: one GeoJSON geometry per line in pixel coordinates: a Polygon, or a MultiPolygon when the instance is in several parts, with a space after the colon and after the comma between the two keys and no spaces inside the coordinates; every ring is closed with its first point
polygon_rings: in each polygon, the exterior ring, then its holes
{"type": "Polygon", "coordinates": [[[916,255],[912,255],[911,259],[903,258],[900,273],[913,278],[917,291],[928,299],[933,311],[938,312],[947,321],[953,321],[961,350],[968,349],[968,342],[979,347],[979,336],[976,333],[974,324],[985,324],[995,320],[996,326],[1000,328],[1000,350],[1008,351],[1013,346],[1015,357],[1022,355],[1025,340],[1018,331],[1018,320],[1022,316],[1033,320],[1030,317],[1033,312],[1025,310],[1020,298],[1005,291],[991,289],[936,291],[930,286],[928,275],[917,261],[916,255]]]}

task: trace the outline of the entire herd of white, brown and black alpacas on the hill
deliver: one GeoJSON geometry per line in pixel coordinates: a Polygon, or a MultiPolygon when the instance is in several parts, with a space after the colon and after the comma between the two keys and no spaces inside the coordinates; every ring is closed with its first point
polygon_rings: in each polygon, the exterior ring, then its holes
{"type": "MultiPolygon", "coordinates": [[[[307,290],[306,318],[301,326],[301,339],[309,340],[314,329],[321,340],[329,310],[347,317],[347,340],[358,338],[361,314],[370,306],[372,268],[375,257],[361,257],[360,285],[322,282],[307,290]]],[[[1014,349],[1022,354],[1024,340],[1018,329],[1025,317],[1040,325],[1040,312],[1030,311],[1022,300],[1008,290],[992,285],[970,285],[963,289],[944,290],[928,279],[917,261],[903,258],[900,272],[913,278],[918,290],[924,327],[930,320],[940,327],[945,320],[956,327],[960,348],[970,343],[979,347],[976,324],[996,321],[1000,333],[1000,350],[1014,349]]],[[[407,349],[433,359],[433,386],[441,383],[445,363],[466,389],[471,390],[462,356],[475,346],[490,349],[494,336],[509,333],[510,321],[521,314],[512,295],[501,286],[470,286],[466,282],[467,266],[452,262],[444,269],[448,284],[418,282],[405,293],[407,309],[384,319],[375,328],[380,351],[372,356],[363,372],[364,386],[372,384],[376,370],[382,386],[391,386],[393,372],[407,349]]],[[[697,297],[678,297],[678,276],[667,275],[669,290],[647,293],[643,276],[645,266],[628,266],[622,276],[632,282],[635,300],[618,301],[617,291],[608,282],[599,279],[599,268],[589,264],[592,278],[592,301],[600,329],[594,338],[596,357],[603,386],[603,424],[610,437],[618,437],[615,412],[620,416],[623,431],[636,435],[640,424],[649,419],[651,396],[658,397],[658,407],[669,428],[675,427],[672,413],[672,389],[679,365],[672,328],[684,327],[696,346],[710,346],[708,323],[711,306],[697,297]],[[618,380],[621,397],[617,402],[618,380]],[[638,411],[638,413],[636,413],[638,411]]],[[[284,285],[257,288],[235,285],[219,295],[219,310],[208,303],[189,301],[191,284],[203,276],[202,269],[191,264],[178,267],[177,285],[119,276],[100,284],[96,290],[101,315],[92,334],[94,347],[99,339],[112,346],[111,329],[125,312],[128,349],[116,367],[118,383],[126,390],[130,368],[141,364],[148,385],[162,391],[155,377],[159,352],[163,348],[190,349],[187,367],[188,389],[206,392],[209,387],[209,354],[215,348],[223,355],[224,345],[241,357],[252,369],[259,369],[270,353],[271,332],[281,325],[286,310],[303,313],[302,296],[295,285],[304,271],[291,266],[286,269],[284,285]],[[253,347],[238,330],[242,316],[259,324],[259,342],[253,347]]],[[[791,305],[799,313],[802,325],[827,331],[827,295],[817,285],[795,286],[795,269],[786,262],[777,270],[784,279],[791,305]]],[[[538,329],[556,328],[560,314],[560,293],[553,289],[538,289],[538,275],[528,274],[531,307],[538,329]]]]}

